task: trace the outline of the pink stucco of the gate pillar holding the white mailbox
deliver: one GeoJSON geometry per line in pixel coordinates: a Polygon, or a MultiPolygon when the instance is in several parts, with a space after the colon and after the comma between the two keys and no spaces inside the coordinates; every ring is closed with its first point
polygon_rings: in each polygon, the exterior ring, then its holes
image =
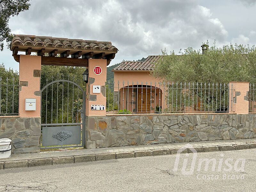
{"type": "Polygon", "coordinates": [[[34,77],[34,69],[41,70],[41,57],[20,55],[20,81],[28,82],[28,86],[20,87],[20,117],[40,117],[41,97],[34,94],[34,92],[40,91],[40,77],[34,77]],[[25,111],[26,98],[36,99],[36,111],[25,111]]]}

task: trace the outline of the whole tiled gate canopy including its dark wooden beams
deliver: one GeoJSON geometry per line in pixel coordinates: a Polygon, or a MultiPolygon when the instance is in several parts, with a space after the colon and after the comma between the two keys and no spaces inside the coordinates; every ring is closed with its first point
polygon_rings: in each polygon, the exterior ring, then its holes
{"type": "Polygon", "coordinates": [[[42,56],[42,65],[87,67],[90,58],[106,59],[109,65],[118,49],[108,41],[15,35],[12,39],[11,51],[17,62],[20,62],[18,52],[23,51],[26,55],[37,52],[37,56],[42,56]],[[60,54],[60,57],[56,57],[57,54],[60,54]],[[80,57],[82,60],[78,59],[80,57]]]}

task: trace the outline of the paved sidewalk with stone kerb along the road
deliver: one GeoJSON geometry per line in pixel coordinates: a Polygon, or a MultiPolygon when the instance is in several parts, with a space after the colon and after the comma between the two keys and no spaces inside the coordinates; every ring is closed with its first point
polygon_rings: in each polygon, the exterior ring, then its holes
{"type": "MultiPolygon", "coordinates": [[[[79,163],[140,156],[172,155],[176,154],[177,150],[186,144],[190,144],[197,152],[240,150],[256,148],[256,138],[12,154],[10,158],[0,159],[0,169],[79,163]]],[[[183,153],[189,152],[191,153],[190,149],[187,149],[183,153]]]]}

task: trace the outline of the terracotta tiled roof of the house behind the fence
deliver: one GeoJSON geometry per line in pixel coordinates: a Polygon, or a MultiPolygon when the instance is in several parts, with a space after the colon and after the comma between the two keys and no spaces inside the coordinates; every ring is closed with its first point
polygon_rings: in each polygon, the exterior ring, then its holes
{"type": "Polygon", "coordinates": [[[145,61],[123,61],[120,65],[112,69],[112,71],[152,71],[155,68],[156,61],[160,58],[160,55],[150,55],[145,61]]]}

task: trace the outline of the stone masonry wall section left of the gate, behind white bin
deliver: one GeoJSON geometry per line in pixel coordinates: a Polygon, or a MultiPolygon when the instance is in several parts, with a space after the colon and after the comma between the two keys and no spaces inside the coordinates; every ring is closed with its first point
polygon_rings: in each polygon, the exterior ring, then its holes
{"type": "Polygon", "coordinates": [[[41,117],[0,117],[0,138],[12,140],[12,153],[40,152],[41,117]]]}

